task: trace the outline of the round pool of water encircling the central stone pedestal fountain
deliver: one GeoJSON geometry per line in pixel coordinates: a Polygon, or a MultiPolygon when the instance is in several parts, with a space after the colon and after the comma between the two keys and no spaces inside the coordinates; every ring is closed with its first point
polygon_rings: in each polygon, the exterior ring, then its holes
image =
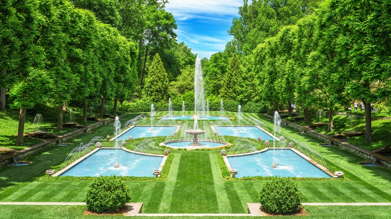
{"type": "Polygon", "coordinates": [[[199,139],[198,146],[192,146],[192,139],[176,139],[176,140],[167,140],[160,143],[160,146],[167,146],[172,148],[186,148],[186,149],[197,149],[197,148],[219,148],[230,145],[223,140],[212,140],[212,139],[199,139]]]}

